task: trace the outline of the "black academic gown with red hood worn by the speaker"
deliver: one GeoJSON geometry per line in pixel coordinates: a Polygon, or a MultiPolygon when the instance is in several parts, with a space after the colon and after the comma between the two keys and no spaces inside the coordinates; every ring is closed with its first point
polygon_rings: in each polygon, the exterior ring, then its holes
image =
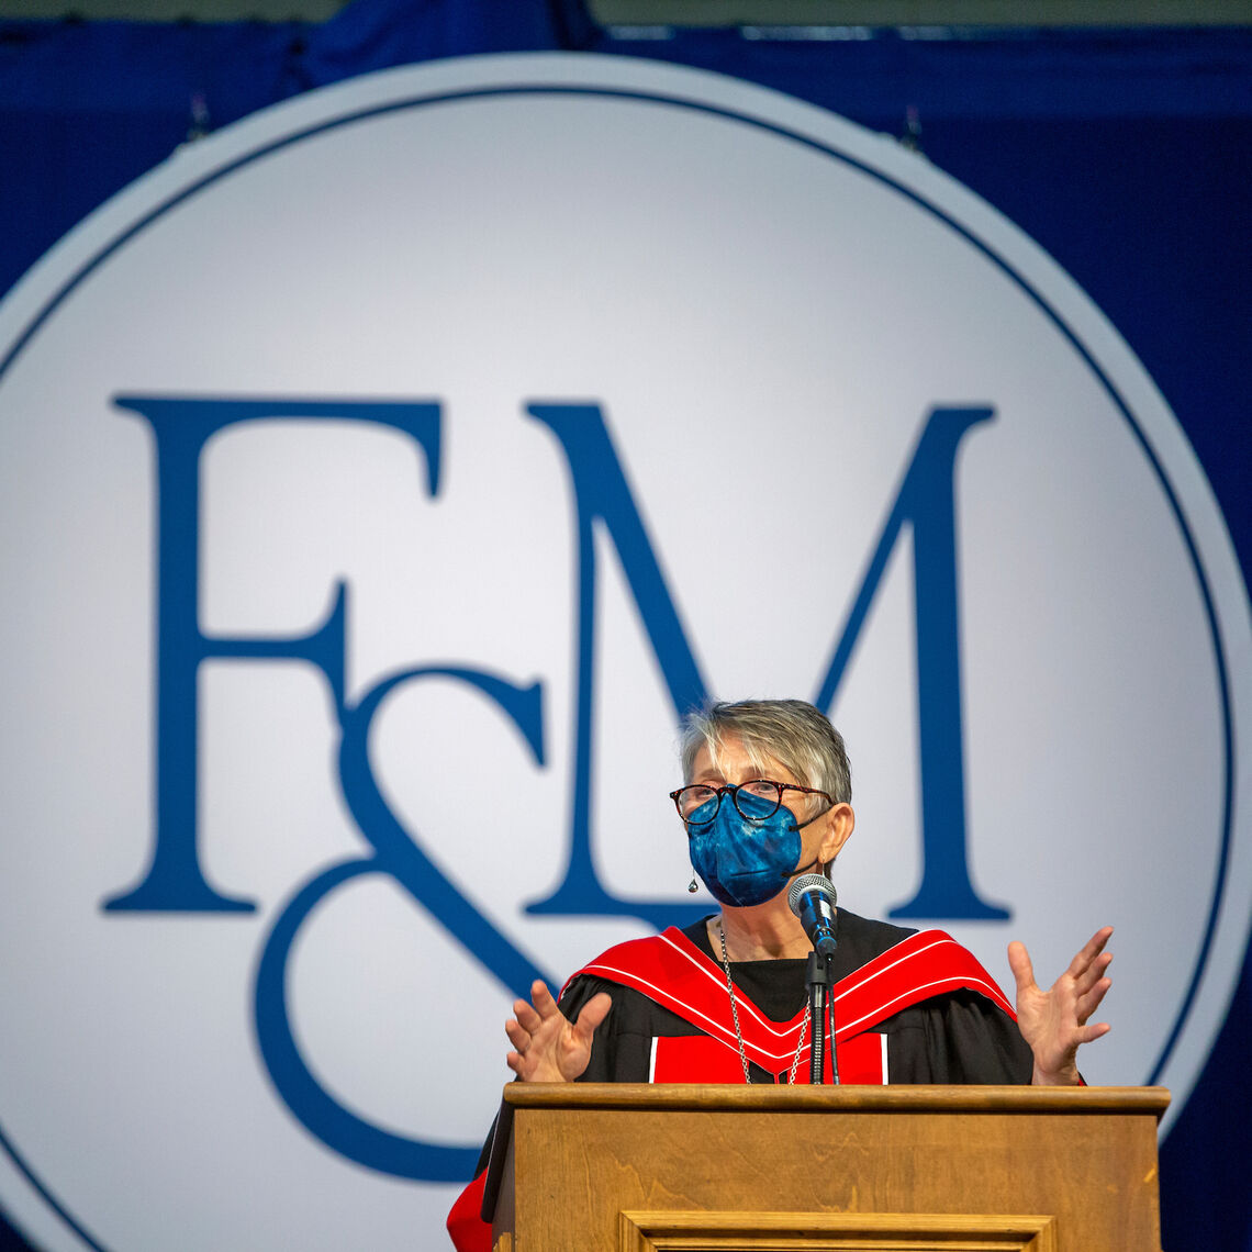
{"type": "MultiPolygon", "coordinates": [[[[739,1030],[725,970],[705,921],[618,944],[565,985],[571,1020],[600,992],[613,1000],[580,1082],[809,1080],[805,968],[800,960],[731,962],[739,1030]],[[799,1063],[796,1063],[799,1052],[799,1063]]],[[[844,1083],[1029,1083],[1030,1048],[1012,1005],[977,960],[940,931],[918,933],[839,910],[834,1028],[844,1083]]],[[[828,1080],[830,1063],[826,1063],[828,1080]]],[[[490,1252],[481,1221],[491,1136],[477,1177],[448,1217],[458,1252],[490,1252]]]]}

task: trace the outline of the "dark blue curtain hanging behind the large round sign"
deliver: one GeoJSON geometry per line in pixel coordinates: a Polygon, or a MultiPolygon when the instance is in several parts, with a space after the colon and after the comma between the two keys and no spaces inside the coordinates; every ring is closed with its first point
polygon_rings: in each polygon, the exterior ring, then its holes
{"type": "MultiPolygon", "coordinates": [[[[1252,573],[1252,33],[770,34],[607,31],[578,0],[357,0],[316,28],[0,21],[0,293],[185,140],[193,113],[219,128],[386,66],[586,50],[717,70],[895,134],[913,109],[925,154],[1050,252],[1127,338],[1252,573]]],[[[1168,727],[1161,741],[1168,752],[1168,727]]],[[[1249,1054],[1252,960],[1162,1149],[1167,1252],[1252,1249],[1249,1054]]],[[[25,1246],[0,1227],[0,1249],[25,1246]]]]}

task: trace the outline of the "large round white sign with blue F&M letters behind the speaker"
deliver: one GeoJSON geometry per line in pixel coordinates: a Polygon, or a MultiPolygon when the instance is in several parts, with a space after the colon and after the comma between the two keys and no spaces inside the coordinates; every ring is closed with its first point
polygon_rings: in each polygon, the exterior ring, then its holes
{"type": "Polygon", "coordinates": [[[0,310],[0,1203],[438,1246],[535,977],[710,910],[677,719],[801,696],[840,901],[1186,1097],[1252,911],[1248,606],[1035,245],[742,83],[373,75],[178,153],[0,310]]]}

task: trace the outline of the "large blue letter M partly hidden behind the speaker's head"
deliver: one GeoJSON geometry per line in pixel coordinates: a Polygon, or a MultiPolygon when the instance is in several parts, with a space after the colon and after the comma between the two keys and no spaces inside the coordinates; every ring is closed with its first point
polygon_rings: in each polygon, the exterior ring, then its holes
{"type": "MultiPolygon", "coordinates": [[[[577,515],[577,677],[570,860],[547,899],[530,910],[558,915],[620,914],[661,925],[671,900],[625,900],[600,881],[591,854],[592,709],[595,702],[596,556],[593,523],[612,540],[676,715],[709,697],[680,613],[610,438],[598,404],[533,403],[565,453],[577,515]]],[[[835,636],[814,702],[830,712],[856,649],[891,552],[905,528],[913,538],[916,612],[918,725],[921,794],[921,883],[893,918],[1004,919],[1007,909],[982,899],[969,875],[960,684],[959,582],[955,507],[957,451],[989,407],[935,407],[926,416],[860,586],[835,636]]]]}

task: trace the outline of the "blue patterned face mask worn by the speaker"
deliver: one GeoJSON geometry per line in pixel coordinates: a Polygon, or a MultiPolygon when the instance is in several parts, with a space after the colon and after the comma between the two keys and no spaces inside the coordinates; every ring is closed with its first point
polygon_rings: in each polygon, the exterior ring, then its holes
{"type": "MultiPolygon", "coordinates": [[[[691,814],[695,821],[717,800],[709,800],[691,814]]],[[[739,793],[739,804],[746,813],[762,816],[774,808],[749,791],[739,793]]],[[[808,825],[808,823],[805,823],[808,825]]],[[[717,816],[706,826],[690,825],[691,865],[722,904],[749,908],[772,900],[796,873],[800,860],[800,828],[795,814],[780,805],[772,816],[749,821],[731,803],[721,798],[717,816]]]]}

